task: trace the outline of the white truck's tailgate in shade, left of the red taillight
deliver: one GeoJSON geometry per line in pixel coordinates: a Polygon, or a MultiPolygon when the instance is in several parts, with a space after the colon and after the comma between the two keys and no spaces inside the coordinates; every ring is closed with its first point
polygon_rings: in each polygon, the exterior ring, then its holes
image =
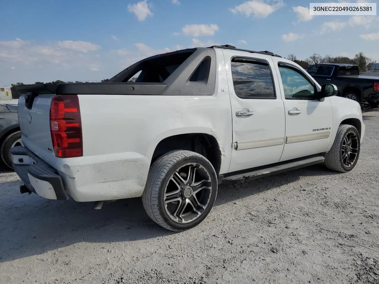
{"type": "Polygon", "coordinates": [[[50,134],[50,102],[54,95],[22,95],[17,106],[22,143],[41,158],[54,153],[50,134]]]}

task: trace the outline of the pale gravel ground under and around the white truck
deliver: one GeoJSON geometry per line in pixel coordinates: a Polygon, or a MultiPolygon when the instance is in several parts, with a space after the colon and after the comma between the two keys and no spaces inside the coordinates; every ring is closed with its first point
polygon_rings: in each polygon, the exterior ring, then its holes
{"type": "Polygon", "coordinates": [[[223,184],[203,223],[155,225],[140,198],[20,195],[0,174],[1,283],[379,283],[379,112],[352,172],[320,165],[223,184]]]}

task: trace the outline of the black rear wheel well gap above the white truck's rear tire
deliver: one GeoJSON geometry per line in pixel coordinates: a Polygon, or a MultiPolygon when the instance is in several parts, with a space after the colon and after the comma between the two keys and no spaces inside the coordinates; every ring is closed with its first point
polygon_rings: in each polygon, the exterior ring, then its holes
{"type": "Polygon", "coordinates": [[[220,172],[221,151],[214,136],[204,133],[189,133],[167,137],[155,147],[151,164],[164,153],[172,150],[189,150],[199,153],[211,162],[217,175],[220,172]]]}

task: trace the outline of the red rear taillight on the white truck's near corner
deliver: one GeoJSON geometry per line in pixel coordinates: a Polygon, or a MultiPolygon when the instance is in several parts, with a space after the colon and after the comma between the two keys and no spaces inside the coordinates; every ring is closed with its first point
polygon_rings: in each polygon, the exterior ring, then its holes
{"type": "Polygon", "coordinates": [[[81,118],[77,95],[55,95],[52,98],[50,132],[56,157],[83,156],[81,118]]]}

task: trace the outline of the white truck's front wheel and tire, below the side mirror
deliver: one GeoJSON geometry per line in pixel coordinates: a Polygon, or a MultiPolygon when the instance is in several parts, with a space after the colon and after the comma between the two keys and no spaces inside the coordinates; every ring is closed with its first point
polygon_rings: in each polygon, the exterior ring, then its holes
{"type": "Polygon", "coordinates": [[[357,164],[360,152],[360,135],[352,125],[343,124],[338,127],[332,148],[325,156],[324,164],[330,170],[346,173],[354,169],[357,164]],[[350,144],[346,143],[351,141],[350,144]],[[346,145],[347,144],[347,145],[346,145]],[[351,146],[351,148],[346,148],[351,146]],[[344,150],[345,149],[345,150],[344,150]],[[346,150],[349,151],[348,157],[345,156],[346,150]],[[354,160],[350,155],[355,155],[354,160]],[[347,158],[347,159],[346,159],[347,158]]]}

